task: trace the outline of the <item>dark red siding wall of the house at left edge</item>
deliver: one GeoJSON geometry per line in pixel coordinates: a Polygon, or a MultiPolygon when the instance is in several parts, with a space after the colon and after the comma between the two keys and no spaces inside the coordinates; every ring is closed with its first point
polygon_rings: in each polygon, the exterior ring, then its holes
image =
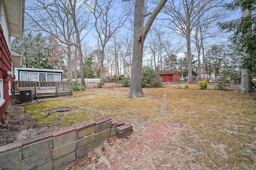
{"type": "Polygon", "coordinates": [[[2,119],[4,112],[8,109],[11,101],[12,101],[12,95],[9,96],[9,81],[11,82],[11,88],[12,88],[12,81],[13,78],[7,77],[4,78],[3,72],[11,71],[12,70],[12,64],[11,64],[11,58],[10,58],[10,51],[8,49],[6,40],[4,39],[4,35],[2,31],[0,31],[0,79],[3,80],[4,84],[4,104],[0,107],[0,120],[2,119]]]}

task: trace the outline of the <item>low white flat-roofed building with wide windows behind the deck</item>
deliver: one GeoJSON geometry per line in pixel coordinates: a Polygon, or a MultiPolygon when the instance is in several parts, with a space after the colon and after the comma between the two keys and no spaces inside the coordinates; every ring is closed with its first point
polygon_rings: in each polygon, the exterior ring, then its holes
{"type": "Polygon", "coordinates": [[[59,82],[63,70],[40,68],[15,68],[16,81],[59,82]]]}

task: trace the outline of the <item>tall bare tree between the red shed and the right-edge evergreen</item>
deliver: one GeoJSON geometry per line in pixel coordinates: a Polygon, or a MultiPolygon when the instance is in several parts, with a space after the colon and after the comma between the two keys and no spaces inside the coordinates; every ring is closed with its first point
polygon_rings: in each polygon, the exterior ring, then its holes
{"type": "Polygon", "coordinates": [[[164,12],[169,16],[174,27],[170,27],[179,35],[186,38],[188,58],[188,83],[193,83],[191,64],[191,35],[195,26],[206,12],[213,12],[221,5],[223,0],[170,0],[165,6],[164,12]]]}

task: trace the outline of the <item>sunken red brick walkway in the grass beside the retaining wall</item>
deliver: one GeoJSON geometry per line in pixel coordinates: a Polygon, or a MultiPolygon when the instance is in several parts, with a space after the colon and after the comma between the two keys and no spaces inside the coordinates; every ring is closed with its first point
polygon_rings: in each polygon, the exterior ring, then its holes
{"type": "MultiPolygon", "coordinates": [[[[182,125],[174,121],[150,125],[140,139],[130,141],[118,150],[114,158],[108,160],[111,169],[126,169],[128,165],[142,159],[144,153],[152,149],[159,149],[163,144],[168,143],[180,128],[182,128],[182,125]]],[[[108,167],[102,164],[99,164],[96,168],[97,170],[109,170],[108,167]]],[[[87,168],[87,170],[92,170],[92,168],[87,168]]]]}

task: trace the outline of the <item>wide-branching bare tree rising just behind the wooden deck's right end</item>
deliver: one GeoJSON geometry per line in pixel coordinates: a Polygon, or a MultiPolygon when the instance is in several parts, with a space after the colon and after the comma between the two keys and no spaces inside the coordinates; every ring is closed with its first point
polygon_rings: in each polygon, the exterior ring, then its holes
{"type": "MultiPolygon", "coordinates": [[[[84,34],[81,32],[89,27],[90,17],[84,10],[82,0],[31,0],[27,4],[29,6],[26,7],[25,14],[31,20],[28,29],[44,31],[55,36],[60,43],[68,45],[68,51],[70,45],[77,47],[81,83],[85,84],[81,41],[89,31],[84,34]],[[74,42],[70,39],[71,35],[76,37],[74,42]]],[[[71,62],[71,59],[68,59],[68,62],[71,62]]],[[[70,63],[68,69],[71,69],[70,63]]]]}

